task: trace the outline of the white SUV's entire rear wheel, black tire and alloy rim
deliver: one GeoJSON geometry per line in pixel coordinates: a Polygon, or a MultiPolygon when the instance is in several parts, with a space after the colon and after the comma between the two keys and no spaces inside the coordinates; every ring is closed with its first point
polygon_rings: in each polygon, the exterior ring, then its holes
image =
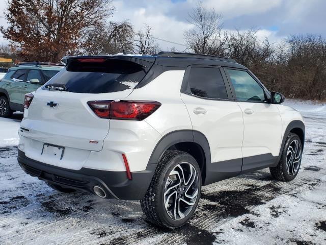
{"type": "Polygon", "coordinates": [[[195,158],[186,152],[166,151],[141,201],[149,222],[171,229],[187,223],[197,208],[201,181],[201,171],[195,158]]]}

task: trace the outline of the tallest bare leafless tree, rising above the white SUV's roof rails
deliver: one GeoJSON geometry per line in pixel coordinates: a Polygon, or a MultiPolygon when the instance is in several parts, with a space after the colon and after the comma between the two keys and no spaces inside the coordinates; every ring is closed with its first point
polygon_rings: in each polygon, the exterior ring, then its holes
{"type": "Polygon", "coordinates": [[[186,31],[185,41],[189,48],[198,54],[221,55],[226,39],[222,35],[222,15],[214,9],[207,10],[200,1],[189,13],[188,22],[194,28],[186,31]]]}

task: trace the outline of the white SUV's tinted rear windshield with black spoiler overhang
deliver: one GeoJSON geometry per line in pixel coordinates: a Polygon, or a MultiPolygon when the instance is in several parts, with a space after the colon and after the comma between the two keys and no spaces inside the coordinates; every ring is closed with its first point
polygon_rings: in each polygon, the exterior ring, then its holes
{"type": "Polygon", "coordinates": [[[82,62],[73,59],[45,86],[65,85],[68,92],[74,93],[110,93],[133,89],[145,75],[141,65],[130,61],[82,62]]]}

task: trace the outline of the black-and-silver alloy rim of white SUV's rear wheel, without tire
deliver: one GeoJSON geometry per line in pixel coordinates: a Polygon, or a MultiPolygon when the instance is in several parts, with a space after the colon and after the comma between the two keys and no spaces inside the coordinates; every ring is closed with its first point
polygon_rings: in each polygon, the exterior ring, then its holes
{"type": "Polygon", "coordinates": [[[172,169],[164,190],[164,205],[171,218],[182,219],[193,210],[198,186],[198,173],[191,163],[182,162],[172,169]]]}

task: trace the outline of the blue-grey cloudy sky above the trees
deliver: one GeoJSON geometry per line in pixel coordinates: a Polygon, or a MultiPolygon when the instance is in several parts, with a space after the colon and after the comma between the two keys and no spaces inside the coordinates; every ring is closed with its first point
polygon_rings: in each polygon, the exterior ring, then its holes
{"type": "MultiPolygon", "coordinates": [[[[116,11],[110,20],[128,19],[138,30],[148,23],[155,38],[184,44],[183,33],[192,28],[187,22],[188,12],[197,0],[114,0],[116,11]]],[[[272,42],[291,34],[313,33],[326,37],[325,0],[203,0],[206,8],[214,8],[223,16],[224,29],[246,30],[258,28],[259,37],[268,36],[272,42]]],[[[7,0],[0,0],[0,26],[7,22],[2,17],[7,0]]],[[[0,34],[0,43],[6,43],[0,34]]],[[[157,41],[162,50],[184,46],[157,41]]]]}

